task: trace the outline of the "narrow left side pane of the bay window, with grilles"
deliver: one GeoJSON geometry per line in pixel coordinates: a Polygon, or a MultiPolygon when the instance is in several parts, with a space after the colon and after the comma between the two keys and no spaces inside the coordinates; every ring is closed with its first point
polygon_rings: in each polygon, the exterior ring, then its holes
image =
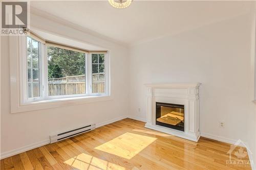
{"type": "Polygon", "coordinates": [[[37,98],[39,89],[39,44],[40,42],[27,37],[27,89],[28,98],[37,98]]]}

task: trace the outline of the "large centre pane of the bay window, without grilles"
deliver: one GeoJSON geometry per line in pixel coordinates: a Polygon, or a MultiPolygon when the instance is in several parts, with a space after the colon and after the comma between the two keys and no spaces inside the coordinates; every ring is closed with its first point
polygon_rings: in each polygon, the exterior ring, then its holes
{"type": "Polygon", "coordinates": [[[48,95],[86,93],[86,54],[47,46],[48,95]]]}

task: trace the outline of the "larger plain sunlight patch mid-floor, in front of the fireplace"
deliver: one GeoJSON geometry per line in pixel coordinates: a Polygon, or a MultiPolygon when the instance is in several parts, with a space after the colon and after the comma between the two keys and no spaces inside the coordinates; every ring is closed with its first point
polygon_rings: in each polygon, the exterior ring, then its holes
{"type": "Polygon", "coordinates": [[[131,159],[156,139],[155,137],[126,132],[94,149],[131,159]]]}

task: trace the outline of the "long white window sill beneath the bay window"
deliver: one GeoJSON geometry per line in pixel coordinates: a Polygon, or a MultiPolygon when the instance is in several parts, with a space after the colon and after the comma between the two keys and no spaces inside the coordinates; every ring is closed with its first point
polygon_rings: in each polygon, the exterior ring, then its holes
{"type": "Polygon", "coordinates": [[[11,108],[11,113],[20,113],[33,110],[50,109],[63,106],[81,105],[92,102],[103,102],[113,100],[110,95],[101,96],[81,96],[76,98],[50,99],[32,103],[21,104],[15,108],[11,108]]]}

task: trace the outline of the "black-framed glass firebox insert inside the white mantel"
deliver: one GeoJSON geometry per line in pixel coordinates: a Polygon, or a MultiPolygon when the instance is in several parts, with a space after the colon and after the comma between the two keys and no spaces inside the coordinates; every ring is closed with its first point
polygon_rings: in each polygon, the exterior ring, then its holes
{"type": "Polygon", "coordinates": [[[156,102],[156,125],[184,132],[184,105],[156,102]]]}

